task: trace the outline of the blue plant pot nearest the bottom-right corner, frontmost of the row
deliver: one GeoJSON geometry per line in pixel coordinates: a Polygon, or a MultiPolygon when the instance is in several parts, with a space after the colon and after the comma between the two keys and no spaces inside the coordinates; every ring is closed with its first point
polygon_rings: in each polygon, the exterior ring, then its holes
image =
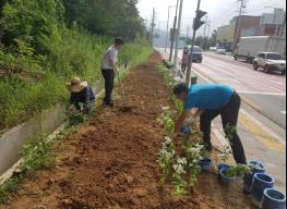
{"type": "Polygon", "coordinates": [[[285,209],[286,208],[286,195],[273,188],[265,189],[262,208],[263,209],[285,209]]]}

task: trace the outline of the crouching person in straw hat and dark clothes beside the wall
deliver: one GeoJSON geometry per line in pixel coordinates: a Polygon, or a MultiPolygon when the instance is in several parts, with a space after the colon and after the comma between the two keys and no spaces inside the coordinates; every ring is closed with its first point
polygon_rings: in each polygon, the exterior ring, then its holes
{"type": "Polygon", "coordinates": [[[65,86],[71,93],[70,111],[88,113],[95,103],[96,97],[87,82],[82,82],[80,77],[73,77],[65,86]],[[83,108],[80,103],[83,103],[83,108]]]}

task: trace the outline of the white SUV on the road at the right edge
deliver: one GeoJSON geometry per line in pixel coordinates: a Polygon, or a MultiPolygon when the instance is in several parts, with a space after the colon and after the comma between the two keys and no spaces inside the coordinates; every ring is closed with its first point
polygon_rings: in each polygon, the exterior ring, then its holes
{"type": "Polygon", "coordinates": [[[279,53],[259,52],[254,59],[253,69],[256,71],[260,67],[263,67],[266,73],[279,71],[286,74],[286,60],[279,53]]]}

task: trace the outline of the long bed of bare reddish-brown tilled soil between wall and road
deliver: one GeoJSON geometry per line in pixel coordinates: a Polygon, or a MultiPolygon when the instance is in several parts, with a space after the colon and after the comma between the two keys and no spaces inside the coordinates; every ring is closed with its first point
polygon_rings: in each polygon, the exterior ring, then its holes
{"type": "Polygon", "coordinates": [[[156,163],[163,130],[156,122],[170,106],[154,53],[135,67],[123,86],[136,109],[130,113],[100,107],[97,115],[55,148],[56,167],[25,182],[0,209],[249,209],[240,185],[220,187],[203,173],[191,195],[172,197],[162,186],[156,163]]]}

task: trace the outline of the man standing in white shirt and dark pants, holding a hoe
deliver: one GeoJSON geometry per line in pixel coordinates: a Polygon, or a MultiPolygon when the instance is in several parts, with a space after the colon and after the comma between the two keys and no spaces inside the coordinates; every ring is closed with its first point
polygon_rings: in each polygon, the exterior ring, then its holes
{"type": "Polygon", "coordinates": [[[122,49],[124,41],[122,38],[116,38],[115,44],[108,48],[105,52],[103,62],[101,62],[101,74],[105,79],[105,90],[106,96],[104,98],[104,103],[106,106],[113,106],[113,101],[111,98],[112,89],[113,89],[113,78],[115,73],[119,73],[118,70],[118,52],[122,49]]]}

